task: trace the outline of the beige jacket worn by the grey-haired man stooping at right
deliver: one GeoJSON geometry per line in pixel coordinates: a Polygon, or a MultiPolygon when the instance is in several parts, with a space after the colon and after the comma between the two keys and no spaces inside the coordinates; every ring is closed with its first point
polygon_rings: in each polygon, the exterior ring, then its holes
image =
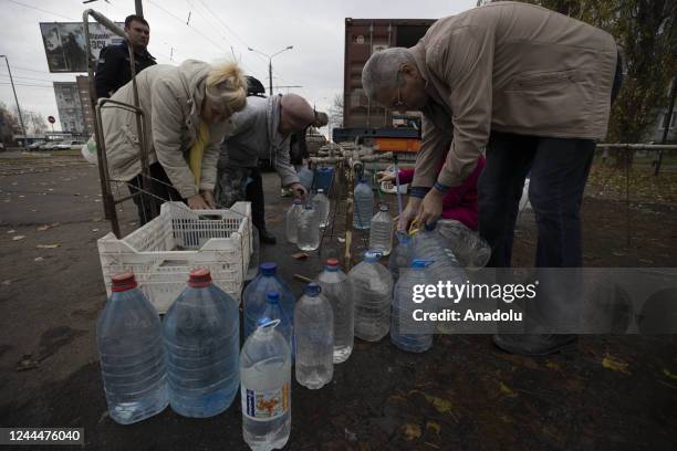
{"type": "Polygon", "coordinates": [[[429,95],[413,186],[460,185],[491,130],[606,135],[617,46],[597,28],[498,2],[438,20],[410,51],[429,95]]]}

